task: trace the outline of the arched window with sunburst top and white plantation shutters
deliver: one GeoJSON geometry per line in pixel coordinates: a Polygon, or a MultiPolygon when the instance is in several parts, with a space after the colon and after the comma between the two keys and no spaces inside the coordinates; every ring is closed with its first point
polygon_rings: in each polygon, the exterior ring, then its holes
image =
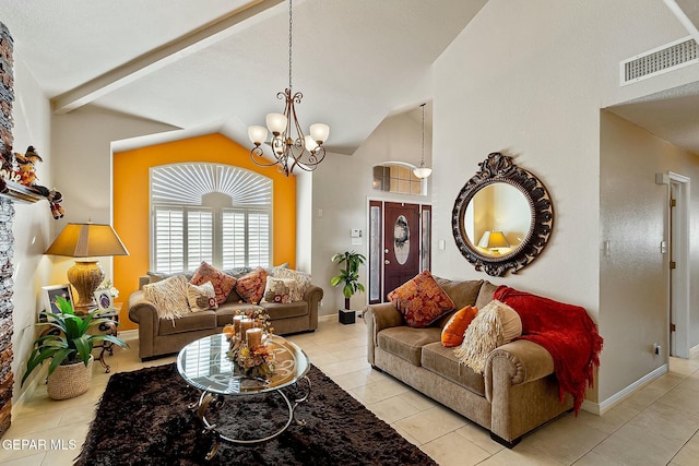
{"type": "Polygon", "coordinates": [[[151,270],[271,263],[272,180],[238,167],[174,164],[150,169],[151,270]]]}

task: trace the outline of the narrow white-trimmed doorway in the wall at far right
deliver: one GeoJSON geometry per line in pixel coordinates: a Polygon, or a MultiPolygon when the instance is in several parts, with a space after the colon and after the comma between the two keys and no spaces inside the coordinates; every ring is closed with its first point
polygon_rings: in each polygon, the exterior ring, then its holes
{"type": "Polygon", "coordinates": [[[689,357],[689,178],[668,174],[670,356],[689,357]]]}

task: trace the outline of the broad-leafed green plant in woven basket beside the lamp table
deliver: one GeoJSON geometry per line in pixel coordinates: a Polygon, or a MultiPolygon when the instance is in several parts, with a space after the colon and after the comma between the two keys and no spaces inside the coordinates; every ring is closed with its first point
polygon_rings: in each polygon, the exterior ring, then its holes
{"type": "Polygon", "coordinates": [[[114,335],[91,334],[88,330],[105,322],[106,318],[98,318],[99,310],[85,315],[75,315],[73,306],[62,297],[56,298],[59,313],[43,311],[45,322],[39,326],[49,326],[34,342],[34,350],[26,362],[26,372],[22,377],[22,385],[27,377],[50,359],[48,367],[48,396],[54,399],[67,399],[82,395],[90,387],[92,380],[92,349],[97,342],[110,342],[114,345],[128,347],[121,338],[114,335]]]}

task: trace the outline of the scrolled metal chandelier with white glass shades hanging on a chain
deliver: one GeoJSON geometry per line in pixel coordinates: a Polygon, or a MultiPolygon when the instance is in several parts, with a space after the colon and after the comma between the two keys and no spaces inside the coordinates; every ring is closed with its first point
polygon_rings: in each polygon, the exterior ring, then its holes
{"type": "Polygon", "coordinates": [[[250,158],[262,167],[279,165],[279,170],[287,177],[294,168],[300,167],[306,171],[316,169],[323,158],[325,148],[322,144],[328,140],[330,127],[324,123],[310,126],[310,134],[304,135],[301,126],[296,118],[295,104],[300,104],[304,95],[292,91],[292,0],[288,1],[288,87],[276,94],[276,98],[284,100],[283,113],[268,113],[266,128],[252,126],[248,128],[248,138],[254,147],[250,151],[250,158]],[[268,142],[268,129],[272,139],[268,142]],[[272,148],[273,162],[264,158],[262,144],[272,148]]]}

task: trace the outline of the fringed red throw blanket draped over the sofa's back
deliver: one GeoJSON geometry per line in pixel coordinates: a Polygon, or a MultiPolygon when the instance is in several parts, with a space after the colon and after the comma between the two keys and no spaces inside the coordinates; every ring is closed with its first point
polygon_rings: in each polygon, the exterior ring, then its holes
{"type": "Polygon", "coordinates": [[[576,416],[593,386],[594,368],[600,367],[603,339],[584,308],[499,286],[495,299],[514,309],[522,319],[522,339],[537,343],[554,359],[560,401],[566,392],[573,398],[576,416]]]}

